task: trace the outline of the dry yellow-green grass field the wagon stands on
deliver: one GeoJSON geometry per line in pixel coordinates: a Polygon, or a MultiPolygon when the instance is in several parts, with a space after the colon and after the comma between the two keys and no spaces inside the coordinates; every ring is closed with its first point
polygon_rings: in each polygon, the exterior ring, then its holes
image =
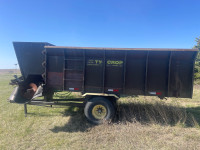
{"type": "Polygon", "coordinates": [[[0,149],[200,149],[200,86],[193,99],[124,97],[110,123],[89,124],[82,108],[6,101],[11,75],[0,75],[0,149]]]}

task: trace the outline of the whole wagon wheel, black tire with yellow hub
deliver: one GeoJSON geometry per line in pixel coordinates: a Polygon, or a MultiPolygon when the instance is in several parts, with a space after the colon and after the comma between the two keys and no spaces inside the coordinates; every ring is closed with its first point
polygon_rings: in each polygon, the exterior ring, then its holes
{"type": "Polygon", "coordinates": [[[94,124],[102,124],[104,120],[110,120],[115,114],[115,108],[111,101],[104,97],[90,99],[84,108],[87,119],[94,124]]]}

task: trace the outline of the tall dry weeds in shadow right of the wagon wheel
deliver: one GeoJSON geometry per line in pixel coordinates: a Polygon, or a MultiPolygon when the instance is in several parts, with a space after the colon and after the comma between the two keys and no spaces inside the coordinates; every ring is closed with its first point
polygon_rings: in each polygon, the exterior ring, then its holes
{"type": "Polygon", "coordinates": [[[119,101],[114,122],[199,127],[194,115],[186,108],[155,99],[133,100],[129,98],[119,101]]]}

